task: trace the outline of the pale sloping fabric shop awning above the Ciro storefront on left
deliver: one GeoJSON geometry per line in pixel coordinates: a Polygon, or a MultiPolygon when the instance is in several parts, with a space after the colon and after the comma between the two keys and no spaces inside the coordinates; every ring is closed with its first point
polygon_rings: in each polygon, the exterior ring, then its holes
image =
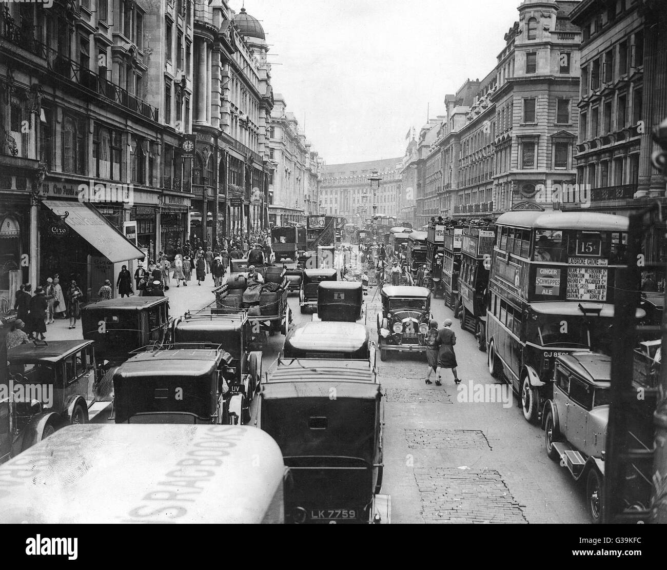
{"type": "Polygon", "coordinates": [[[120,233],[103,215],[86,203],[65,200],[44,200],[43,204],[85,241],[112,263],[141,259],[141,250],[120,233]]]}

